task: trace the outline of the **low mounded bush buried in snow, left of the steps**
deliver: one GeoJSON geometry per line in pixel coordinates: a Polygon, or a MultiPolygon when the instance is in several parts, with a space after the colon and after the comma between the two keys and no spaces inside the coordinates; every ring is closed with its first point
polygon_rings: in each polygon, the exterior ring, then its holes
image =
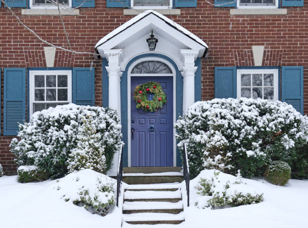
{"type": "Polygon", "coordinates": [[[65,202],[104,216],[114,204],[115,183],[116,180],[104,174],[85,169],[56,180],[53,188],[65,202]]]}

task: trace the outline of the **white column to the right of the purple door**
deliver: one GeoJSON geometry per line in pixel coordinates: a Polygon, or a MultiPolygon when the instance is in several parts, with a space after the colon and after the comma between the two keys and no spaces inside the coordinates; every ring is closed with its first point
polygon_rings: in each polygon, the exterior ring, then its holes
{"type": "Polygon", "coordinates": [[[198,56],[198,50],[181,49],[184,66],[182,68],[183,76],[183,113],[187,112],[189,106],[195,103],[195,60],[198,56]]]}

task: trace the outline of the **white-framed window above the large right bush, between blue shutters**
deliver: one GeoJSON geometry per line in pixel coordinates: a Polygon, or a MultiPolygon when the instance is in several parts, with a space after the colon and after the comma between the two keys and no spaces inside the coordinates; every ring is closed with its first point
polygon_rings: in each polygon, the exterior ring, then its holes
{"type": "Polygon", "coordinates": [[[238,69],[237,98],[278,100],[278,69],[238,69]]]}

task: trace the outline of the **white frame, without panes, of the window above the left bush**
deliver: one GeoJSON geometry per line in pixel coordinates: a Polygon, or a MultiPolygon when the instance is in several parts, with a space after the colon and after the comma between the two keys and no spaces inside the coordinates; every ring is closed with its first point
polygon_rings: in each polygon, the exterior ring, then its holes
{"type": "MultiPolygon", "coordinates": [[[[46,85],[45,85],[46,88],[46,85]]],[[[29,116],[31,118],[33,114],[33,103],[71,103],[71,70],[29,70],[29,116]],[[34,101],[34,76],[35,75],[58,75],[58,74],[66,74],[67,75],[67,101],[44,101],[44,102],[35,102],[34,101]]]]}

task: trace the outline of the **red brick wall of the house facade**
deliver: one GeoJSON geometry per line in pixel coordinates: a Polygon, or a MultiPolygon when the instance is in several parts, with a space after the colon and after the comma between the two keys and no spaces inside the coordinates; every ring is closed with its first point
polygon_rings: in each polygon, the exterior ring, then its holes
{"type": "MultiPolygon", "coordinates": [[[[69,48],[58,16],[18,17],[42,39],[69,48]]],[[[230,16],[229,8],[213,8],[198,0],[197,8],[181,9],[172,19],[204,40],[209,57],[202,59],[202,100],[214,97],[214,66],[253,66],[253,45],[264,45],[263,66],[304,66],[304,113],[308,113],[308,5],[287,8],[287,15],[230,16]]],[[[170,17],[170,16],[169,16],[170,17]]],[[[105,0],[96,0],[95,8],[80,9],[80,16],[63,16],[71,46],[76,51],[93,52],[95,44],[132,16],[123,9],[107,9],[105,0]]],[[[42,44],[18,24],[12,14],[0,9],[0,67],[44,67],[42,44]]],[[[101,60],[90,54],[71,54],[57,49],[55,67],[95,67],[96,105],[102,105],[101,60]]],[[[2,83],[3,118],[3,83],[2,83]]],[[[2,120],[3,125],[3,120],[2,120]]],[[[2,127],[3,129],[3,127],[2,127]]],[[[3,133],[3,132],[2,132],[3,133]]],[[[9,153],[12,137],[0,136],[0,163],[6,174],[15,165],[9,153]]]]}

